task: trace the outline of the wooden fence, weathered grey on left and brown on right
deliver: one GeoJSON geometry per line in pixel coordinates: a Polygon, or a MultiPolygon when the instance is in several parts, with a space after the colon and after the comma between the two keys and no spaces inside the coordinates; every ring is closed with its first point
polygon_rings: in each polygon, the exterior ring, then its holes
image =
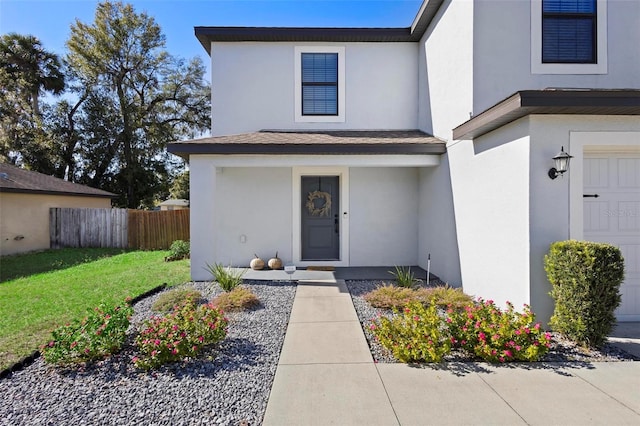
{"type": "Polygon", "coordinates": [[[189,239],[189,210],[51,208],[49,235],[51,248],[164,250],[189,239]]]}

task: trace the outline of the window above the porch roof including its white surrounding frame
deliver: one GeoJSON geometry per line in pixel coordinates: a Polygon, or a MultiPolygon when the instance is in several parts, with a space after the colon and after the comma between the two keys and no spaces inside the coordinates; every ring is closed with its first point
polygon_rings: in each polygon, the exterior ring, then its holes
{"type": "Polygon", "coordinates": [[[345,48],[295,46],[295,121],[345,121],[345,48]]]}

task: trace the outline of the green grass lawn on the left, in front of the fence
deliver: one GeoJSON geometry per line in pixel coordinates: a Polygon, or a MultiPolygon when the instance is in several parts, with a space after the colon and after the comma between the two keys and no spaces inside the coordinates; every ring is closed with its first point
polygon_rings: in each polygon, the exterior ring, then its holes
{"type": "Polygon", "coordinates": [[[189,281],[167,251],[48,250],[0,259],[0,369],[47,342],[51,330],[100,302],[118,304],[162,283],[189,281]]]}

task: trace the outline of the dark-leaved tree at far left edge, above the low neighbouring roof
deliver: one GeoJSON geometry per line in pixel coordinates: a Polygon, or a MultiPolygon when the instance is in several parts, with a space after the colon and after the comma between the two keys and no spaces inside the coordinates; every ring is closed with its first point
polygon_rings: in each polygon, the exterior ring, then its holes
{"type": "Polygon", "coordinates": [[[44,130],[40,97],[60,94],[64,87],[60,59],[40,40],[16,33],[0,37],[0,161],[52,171],[53,147],[44,130]]]}

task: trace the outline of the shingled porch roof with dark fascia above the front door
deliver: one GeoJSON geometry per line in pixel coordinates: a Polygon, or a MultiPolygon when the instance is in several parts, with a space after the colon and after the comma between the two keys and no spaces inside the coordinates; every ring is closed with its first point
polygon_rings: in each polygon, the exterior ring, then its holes
{"type": "Polygon", "coordinates": [[[419,130],[262,130],[175,142],[167,149],[181,157],[190,154],[443,154],[446,143],[419,130]]]}

